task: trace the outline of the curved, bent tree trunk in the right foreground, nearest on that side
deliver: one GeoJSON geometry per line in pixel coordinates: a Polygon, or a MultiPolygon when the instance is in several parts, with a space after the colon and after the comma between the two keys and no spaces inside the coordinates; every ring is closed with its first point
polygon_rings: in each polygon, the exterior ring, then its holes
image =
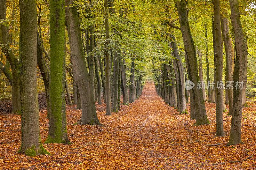
{"type": "MultiPolygon", "coordinates": [[[[234,82],[242,82],[246,76],[247,69],[247,48],[244,42],[244,33],[240,21],[239,3],[237,0],[229,0],[231,8],[231,22],[235,32],[236,60],[233,74],[234,82]]],[[[236,83],[235,83],[236,84],[236,83]]],[[[233,85],[233,112],[231,119],[230,137],[228,145],[236,145],[241,141],[241,120],[242,120],[242,89],[233,85]]]]}

